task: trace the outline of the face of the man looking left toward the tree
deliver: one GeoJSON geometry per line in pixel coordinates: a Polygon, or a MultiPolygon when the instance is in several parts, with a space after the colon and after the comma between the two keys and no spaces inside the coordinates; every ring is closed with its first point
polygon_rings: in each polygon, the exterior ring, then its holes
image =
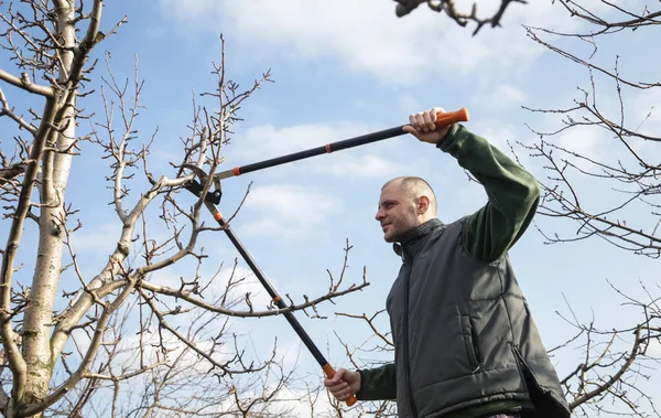
{"type": "Polygon", "coordinates": [[[415,202],[404,193],[399,182],[390,183],[381,191],[375,217],[381,224],[387,243],[399,242],[418,226],[415,202]]]}

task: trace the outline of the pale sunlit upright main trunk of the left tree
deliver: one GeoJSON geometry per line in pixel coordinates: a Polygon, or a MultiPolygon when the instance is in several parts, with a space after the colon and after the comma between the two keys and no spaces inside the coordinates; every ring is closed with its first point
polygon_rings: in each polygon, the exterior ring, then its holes
{"type": "MultiPolygon", "coordinates": [[[[56,9],[58,15],[58,39],[65,46],[75,46],[74,1],[63,1],[56,9]]],[[[58,74],[59,85],[69,83],[74,53],[62,51],[58,74]]],[[[64,152],[46,150],[42,159],[42,184],[40,187],[39,247],[31,288],[30,306],[25,310],[23,328],[23,357],[28,367],[23,399],[19,404],[32,404],[43,400],[48,390],[55,358],[51,353],[51,330],[53,326],[53,306],[62,274],[62,256],[66,227],[64,197],[72,167],[73,156],[69,147],[75,141],[75,99],[66,104],[69,92],[62,90],[57,99],[55,125],[62,129],[52,131],[46,147],[64,152]]],[[[39,415],[41,416],[41,414],[39,415]]]]}

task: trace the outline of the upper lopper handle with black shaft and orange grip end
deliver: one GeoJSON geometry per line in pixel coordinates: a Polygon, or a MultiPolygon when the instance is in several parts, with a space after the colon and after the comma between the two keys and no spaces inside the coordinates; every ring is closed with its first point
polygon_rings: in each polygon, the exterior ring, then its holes
{"type": "MultiPolygon", "coordinates": [[[[436,114],[436,128],[446,127],[448,125],[453,125],[456,122],[465,122],[468,121],[468,109],[462,108],[455,111],[448,111],[445,114],[436,114]]],[[[380,130],[372,133],[362,135],[360,137],[345,139],[343,141],[326,143],[322,147],[311,148],[308,150],[294,152],[291,154],[272,158],[270,160],[263,160],[259,162],[254,162],[252,164],[247,164],[242,167],[235,167],[231,170],[221,171],[214,175],[214,180],[223,180],[231,176],[237,176],[241,174],[246,174],[252,171],[263,170],[275,165],[286,164],[288,162],[303,160],[310,157],[321,156],[323,153],[330,153],[334,151],[346,150],[348,148],[354,148],[358,146],[364,146],[366,143],[381,141],[388,138],[399,137],[401,135],[407,133],[402,128],[405,125],[401,125],[394,128],[389,128],[384,130],[380,130]]]]}

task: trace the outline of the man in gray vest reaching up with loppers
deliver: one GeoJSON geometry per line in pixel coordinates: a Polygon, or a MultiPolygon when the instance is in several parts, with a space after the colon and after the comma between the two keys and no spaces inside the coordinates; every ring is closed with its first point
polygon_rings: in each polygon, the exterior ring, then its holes
{"type": "Polygon", "coordinates": [[[539,203],[532,175],[465,127],[436,129],[441,108],[404,130],[457,159],[488,203],[452,224],[419,178],[383,185],[376,215],[402,267],[386,301],[394,363],[339,369],[325,379],[338,400],[397,399],[400,417],[567,418],[561,385],[507,251],[539,203]]]}

